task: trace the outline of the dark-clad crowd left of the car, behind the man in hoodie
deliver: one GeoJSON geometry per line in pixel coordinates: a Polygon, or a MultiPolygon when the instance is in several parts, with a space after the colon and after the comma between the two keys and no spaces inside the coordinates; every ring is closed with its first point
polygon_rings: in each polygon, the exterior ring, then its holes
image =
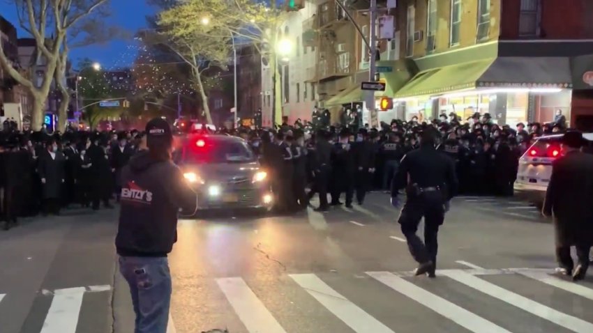
{"type": "Polygon", "coordinates": [[[19,217],[60,215],[63,208],[113,208],[119,173],[142,150],[142,133],[0,133],[0,218],[9,229],[19,217]]]}

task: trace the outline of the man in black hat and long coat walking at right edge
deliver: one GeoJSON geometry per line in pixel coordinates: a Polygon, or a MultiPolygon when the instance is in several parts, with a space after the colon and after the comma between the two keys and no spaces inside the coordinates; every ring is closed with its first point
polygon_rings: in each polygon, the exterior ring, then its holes
{"type": "Polygon", "coordinates": [[[593,155],[583,153],[583,134],[566,132],[562,156],[553,162],[543,215],[554,217],[559,272],[573,280],[585,277],[593,245],[593,155]],[[576,247],[574,266],[571,247],[576,247]]]}

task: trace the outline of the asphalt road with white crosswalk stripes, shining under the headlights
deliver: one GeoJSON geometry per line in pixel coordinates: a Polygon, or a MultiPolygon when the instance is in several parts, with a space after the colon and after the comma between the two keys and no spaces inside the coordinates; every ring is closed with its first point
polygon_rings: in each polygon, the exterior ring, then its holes
{"type": "MultiPolygon", "coordinates": [[[[411,276],[386,194],[323,214],[182,220],[168,333],[593,332],[593,277],[551,274],[553,229],[536,208],[451,206],[437,279],[411,276]]],[[[0,332],[133,332],[116,220],[117,210],[71,212],[0,233],[0,332]]]]}

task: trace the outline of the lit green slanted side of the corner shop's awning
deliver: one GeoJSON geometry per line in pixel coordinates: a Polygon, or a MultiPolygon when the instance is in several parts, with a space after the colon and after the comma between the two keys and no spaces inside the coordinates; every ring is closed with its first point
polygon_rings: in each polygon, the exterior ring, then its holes
{"type": "Polygon", "coordinates": [[[395,94],[395,98],[446,93],[475,88],[495,59],[483,59],[419,72],[395,94]]]}

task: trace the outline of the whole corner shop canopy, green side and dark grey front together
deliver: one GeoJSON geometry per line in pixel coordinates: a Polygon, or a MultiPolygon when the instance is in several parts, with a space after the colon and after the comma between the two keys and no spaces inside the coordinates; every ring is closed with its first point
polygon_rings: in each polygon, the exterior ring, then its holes
{"type": "Polygon", "coordinates": [[[471,88],[571,88],[567,57],[498,57],[419,72],[395,98],[437,95],[471,88]]]}

